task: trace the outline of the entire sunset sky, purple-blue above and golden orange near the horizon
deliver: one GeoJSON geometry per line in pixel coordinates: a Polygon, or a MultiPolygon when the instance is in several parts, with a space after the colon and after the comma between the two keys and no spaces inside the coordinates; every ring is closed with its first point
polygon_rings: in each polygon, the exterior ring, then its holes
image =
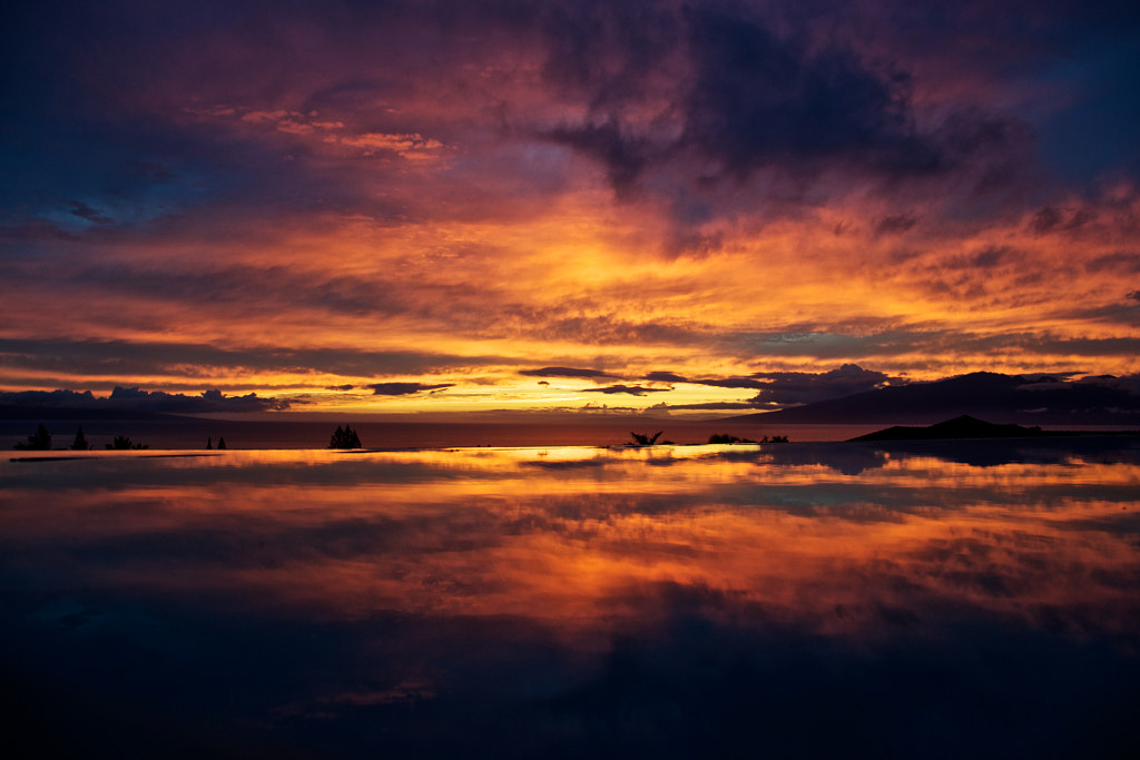
{"type": "Polygon", "coordinates": [[[1138,62],[1134,2],[17,0],[0,394],[681,415],[1135,375],[1138,62]]]}

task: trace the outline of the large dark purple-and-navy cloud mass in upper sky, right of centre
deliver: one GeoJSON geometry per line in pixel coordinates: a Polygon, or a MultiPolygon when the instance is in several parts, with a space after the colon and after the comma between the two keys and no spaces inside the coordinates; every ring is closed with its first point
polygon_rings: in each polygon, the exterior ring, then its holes
{"type": "MultiPolygon", "coordinates": [[[[624,35],[591,6],[576,18],[595,36],[570,46],[575,55],[551,42],[547,76],[571,81],[589,115],[547,137],[604,165],[619,195],[665,165],[690,166],[683,173],[707,187],[766,169],[804,178],[839,169],[893,181],[982,163],[990,165],[979,188],[1001,186],[1019,171],[1020,146],[1031,139],[1018,116],[980,108],[953,109],[920,129],[907,71],[870,63],[840,34],[781,30],[743,3],[648,14],[624,35]],[[587,52],[597,63],[581,63],[587,52]],[[677,72],[671,85],[654,81],[650,62],[677,72]],[[630,85],[635,76],[643,87],[630,85]],[[646,108],[658,115],[646,121],[646,108]]],[[[899,226],[907,219],[888,218],[881,231],[907,229],[913,221],[899,226]]]]}

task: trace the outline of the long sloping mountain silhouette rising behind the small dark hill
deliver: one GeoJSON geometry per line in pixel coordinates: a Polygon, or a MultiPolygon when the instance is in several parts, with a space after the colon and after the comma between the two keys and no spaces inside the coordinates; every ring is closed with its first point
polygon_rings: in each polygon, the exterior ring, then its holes
{"type": "MultiPolygon", "coordinates": [[[[1115,377],[1078,382],[974,373],[888,386],[731,422],[929,425],[963,415],[1029,425],[1140,425],[1140,395],[1115,377]]],[[[728,420],[726,420],[728,422],[728,420]]]]}

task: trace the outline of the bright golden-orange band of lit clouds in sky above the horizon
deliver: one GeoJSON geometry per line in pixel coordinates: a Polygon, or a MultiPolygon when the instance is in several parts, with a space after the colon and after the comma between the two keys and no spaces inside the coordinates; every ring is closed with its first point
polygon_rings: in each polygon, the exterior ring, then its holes
{"type": "MultiPolygon", "coordinates": [[[[218,242],[205,264],[218,272],[210,287],[220,288],[222,305],[204,309],[164,294],[108,292],[87,301],[82,324],[60,313],[52,329],[52,317],[39,314],[34,328],[17,318],[0,330],[0,337],[16,338],[28,329],[49,329],[88,342],[147,343],[161,335],[174,345],[217,346],[221,357],[229,348],[271,354],[280,346],[343,356],[427,350],[447,357],[425,361],[423,371],[290,370],[287,357],[279,369],[269,370],[241,360],[222,365],[188,358],[168,360],[152,373],[124,374],[83,367],[44,373],[17,365],[5,369],[0,382],[14,390],[222,387],[307,400],[312,410],[413,411],[477,410],[495,403],[645,408],[755,395],[675,385],[668,393],[595,398],[601,394],[583,392],[588,382],[548,378],[552,385],[540,387],[516,375],[540,366],[602,369],[614,376],[605,382],[627,385],[644,385],[638,378],[651,371],[748,376],[819,373],[848,362],[912,379],[976,370],[1140,371],[1140,359],[1126,353],[1098,358],[1042,346],[1031,354],[1016,348],[1031,332],[1057,346],[1066,340],[1110,342],[1134,335],[1133,325],[1098,313],[1122,299],[1117,272],[1107,267],[1074,277],[1070,242],[1033,236],[1024,219],[953,239],[931,230],[910,250],[896,238],[877,238],[865,226],[848,223],[837,232],[836,219],[865,218],[868,211],[829,209],[815,219],[760,229],[724,228],[732,242],[720,250],[668,256],[653,237],[645,237],[651,219],[644,212],[620,220],[609,203],[585,191],[506,224],[440,221],[377,228],[367,220],[317,220],[308,228],[271,231],[268,239],[218,242]],[[850,259],[853,250],[860,252],[857,260],[850,259]],[[978,256],[995,263],[985,270],[966,267],[978,256]],[[332,261],[334,269],[328,268],[332,261]],[[259,272],[269,277],[266,295],[259,272]],[[306,284],[316,287],[307,293],[306,284]],[[234,297],[225,295],[227,288],[234,297]],[[302,288],[286,310],[279,308],[282,288],[302,288]],[[1059,291],[1066,294],[1064,304],[1058,303],[1059,291]],[[1082,304],[1080,311],[1088,316],[1073,314],[1072,303],[1082,304]],[[773,346],[747,338],[734,345],[732,338],[718,337],[781,335],[789,326],[792,333],[804,330],[803,336],[773,346]],[[861,338],[915,329],[937,337],[912,341],[911,348],[890,340],[878,349],[860,348],[861,338]],[[824,333],[832,337],[822,337],[824,333]],[[972,336],[984,348],[971,349],[954,335],[972,336]],[[1009,343],[990,348],[993,340],[1009,343]],[[837,353],[828,341],[849,341],[852,351],[837,353]],[[377,382],[451,387],[401,398],[361,393],[377,382]],[[357,391],[341,397],[325,390],[342,385],[357,391]]],[[[1105,226],[1102,236],[1082,240],[1082,258],[1112,256],[1119,243],[1105,226]]],[[[157,267],[160,259],[166,272],[203,267],[201,247],[184,243],[163,250],[124,243],[104,255],[142,271],[157,267]]],[[[32,311],[40,297],[13,293],[8,303],[19,314],[32,311]]]]}

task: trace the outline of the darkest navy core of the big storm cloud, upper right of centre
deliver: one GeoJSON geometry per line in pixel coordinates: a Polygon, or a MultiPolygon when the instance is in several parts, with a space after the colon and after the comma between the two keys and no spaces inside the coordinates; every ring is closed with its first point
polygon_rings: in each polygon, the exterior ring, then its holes
{"type": "Polygon", "coordinates": [[[763,22],[686,9],[695,79],[682,145],[743,180],[780,164],[850,160],[927,172],[937,152],[910,122],[906,75],[872,72],[841,48],[809,50],[763,22]]]}

